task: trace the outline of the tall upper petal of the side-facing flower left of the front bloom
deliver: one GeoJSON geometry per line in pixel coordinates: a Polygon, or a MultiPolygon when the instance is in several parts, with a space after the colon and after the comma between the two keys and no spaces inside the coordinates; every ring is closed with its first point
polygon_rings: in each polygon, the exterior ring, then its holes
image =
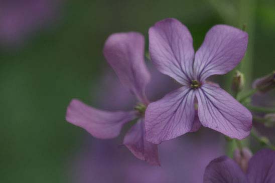
{"type": "Polygon", "coordinates": [[[144,37],[140,33],[116,33],[107,39],[103,54],[121,83],[147,104],[145,87],[150,74],[144,61],[144,37]]]}

